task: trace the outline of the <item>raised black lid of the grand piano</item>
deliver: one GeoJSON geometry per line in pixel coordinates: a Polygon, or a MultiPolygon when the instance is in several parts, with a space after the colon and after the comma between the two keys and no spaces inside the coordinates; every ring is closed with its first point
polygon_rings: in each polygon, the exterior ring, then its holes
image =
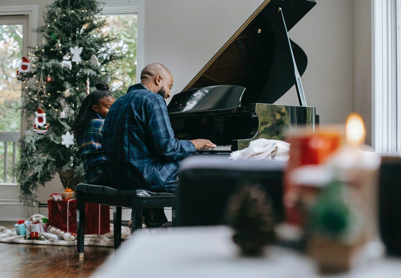
{"type": "MultiPolygon", "coordinates": [[[[241,106],[277,101],[295,84],[291,54],[277,8],[283,9],[286,25],[290,30],[315,4],[313,0],[265,0],[186,85],[183,92],[173,97],[168,105],[169,112],[179,112],[180,107],[177,104],[194,107],[194,103],[189,106],[184,103],[186,98],[191,99],[188,97],[189,92],[185,91],[217,85],[245,87],[241,106]]],[[[308,59],[297,44],[292,42],[292,46],[298,71],[302,75],[308,59]]],[[[227,100],[227,94],[221,96],[227,100]]],[[[238,94],[233,94],[232,97],[234,99],[222,105],[221,109],[227,108],[231,103],[239,103],[238,94]]],[[[219,109],[218,103],[224,104],[224,101],[216,98],[218,96],[202,100],[201,106],[219,109]],[[208,104],[209,101],[214,103],[208,104]]]]}

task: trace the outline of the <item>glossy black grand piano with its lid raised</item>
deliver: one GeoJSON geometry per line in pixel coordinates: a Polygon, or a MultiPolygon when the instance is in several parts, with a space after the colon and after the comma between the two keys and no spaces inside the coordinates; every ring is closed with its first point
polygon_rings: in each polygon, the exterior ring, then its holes
{"type": "Polygon", "coordinates": [[[284,139],[294,127],[314,129],[300,76],[305,52],[288,31],[315,6],[312,0],[265,0],[168,104],[178,139],[210,139],[204,153],[229,153],[259,139],[284,139]],[[273,104],[296,86],[299,106],[273,104]]]}

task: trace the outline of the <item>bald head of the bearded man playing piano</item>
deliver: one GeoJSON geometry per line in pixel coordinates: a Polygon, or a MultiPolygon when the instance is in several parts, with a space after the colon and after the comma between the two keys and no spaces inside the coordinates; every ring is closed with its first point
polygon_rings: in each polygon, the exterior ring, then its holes
{"type": "Polygon", "coordinates": [[[152,63],[144,67],[141,72],[141,83],[154,93],[158,93],[164,99],[170,97],[170,89],[173,86],[171,72],[163,64],[152,63]]]}

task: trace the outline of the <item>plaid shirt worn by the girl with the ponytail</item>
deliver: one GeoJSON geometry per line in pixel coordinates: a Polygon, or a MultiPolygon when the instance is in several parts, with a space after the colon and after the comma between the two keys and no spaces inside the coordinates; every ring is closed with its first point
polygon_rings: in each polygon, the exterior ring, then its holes
{"type": "Polygon", "coordinates": [[[85,169],[85,181],[96,183],[107,174],[107,156],[101,146],[104,119],[96,113],[83,134],[77,138],[79,155],[85,169]]]}

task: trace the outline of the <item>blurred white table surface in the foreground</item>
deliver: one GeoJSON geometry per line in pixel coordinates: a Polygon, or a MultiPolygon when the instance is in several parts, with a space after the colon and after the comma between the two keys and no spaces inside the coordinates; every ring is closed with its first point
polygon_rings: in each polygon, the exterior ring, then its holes
{"type": "MultiPolygon", "coordinates": [[[[239,256],[227,226],[180,227],[154,234],[134,233],[95,277],[320,277],[304,254],[266,248],[260,258],[239,256]]],[[[401,259],[364,256],[348,273],[330,277],[401,277],[401,259]]],[[[327,276],[324,276],[327,277],[327,276]]]]}

